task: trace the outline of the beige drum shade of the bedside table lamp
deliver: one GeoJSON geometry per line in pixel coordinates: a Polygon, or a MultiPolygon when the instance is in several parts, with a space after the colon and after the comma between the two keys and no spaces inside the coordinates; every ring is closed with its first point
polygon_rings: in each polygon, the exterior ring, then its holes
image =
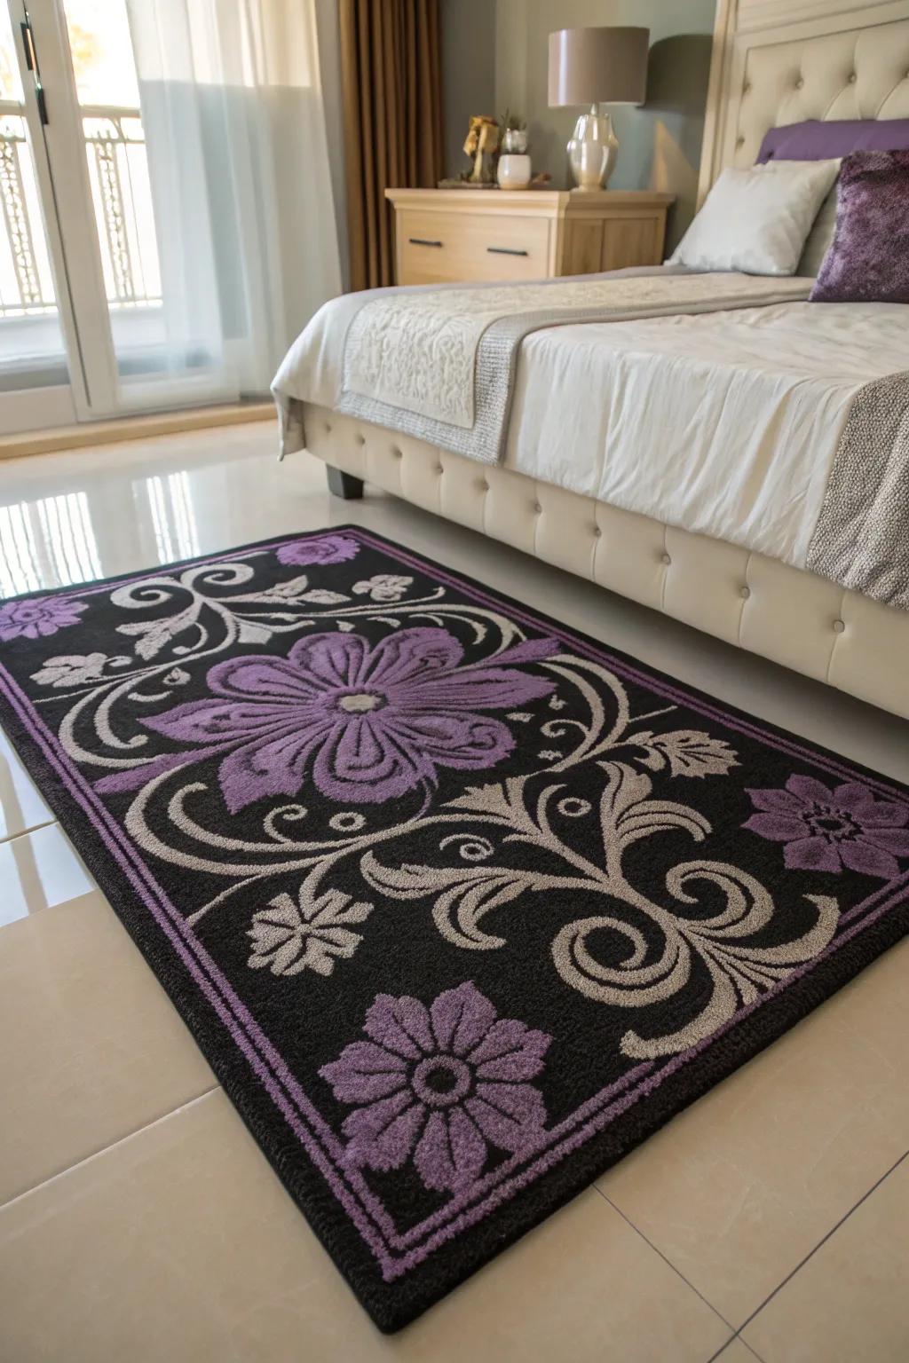
{"type": "Polygon", "coordinates": [[[560,29],[549,34],[549,108],[643,104],[649,29],[560,29]]]}

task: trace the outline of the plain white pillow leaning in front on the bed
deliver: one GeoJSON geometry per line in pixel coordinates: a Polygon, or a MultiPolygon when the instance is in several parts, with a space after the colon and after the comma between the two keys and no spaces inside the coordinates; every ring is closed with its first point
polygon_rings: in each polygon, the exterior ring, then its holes
{"type": "Polygon", "coordinates": [[[669,264],[795,274],[839,161],[769,161],[724,170],[669,264]]]}

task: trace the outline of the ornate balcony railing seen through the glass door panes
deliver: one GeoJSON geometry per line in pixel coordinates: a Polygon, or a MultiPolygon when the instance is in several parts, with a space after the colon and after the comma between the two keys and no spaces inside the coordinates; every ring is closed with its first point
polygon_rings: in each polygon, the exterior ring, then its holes
{"type": "MultiPolygon", "coordinates": [[[[108,304],[161,304],[158,248],[142,117],[138,109],[82,108],[91,199],[108,304]]],[[[0,101],[0,319],[56,312],[53,275],[26,121],[0,101]]]]}

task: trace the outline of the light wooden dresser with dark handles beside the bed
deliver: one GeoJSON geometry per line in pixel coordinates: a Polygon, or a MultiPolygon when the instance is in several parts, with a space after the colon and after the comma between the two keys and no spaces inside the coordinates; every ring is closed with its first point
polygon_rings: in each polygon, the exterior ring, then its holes
{"type": "Polygon", "coordinates": [[[546,279],[660,264],[671,194],[386,189],[398,284],[546,279]]]}

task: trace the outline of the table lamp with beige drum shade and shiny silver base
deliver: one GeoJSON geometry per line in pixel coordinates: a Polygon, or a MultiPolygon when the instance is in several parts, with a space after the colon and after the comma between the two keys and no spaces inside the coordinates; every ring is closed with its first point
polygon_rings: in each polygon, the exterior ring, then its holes
{"type": "Polygon", "coordinates": [[[560,29],[549,34],[549,108],[589,104],[568,143],[578,189],[602,189],[619,154],[601,104],[643,104],[649,29],[560,29]]]}

